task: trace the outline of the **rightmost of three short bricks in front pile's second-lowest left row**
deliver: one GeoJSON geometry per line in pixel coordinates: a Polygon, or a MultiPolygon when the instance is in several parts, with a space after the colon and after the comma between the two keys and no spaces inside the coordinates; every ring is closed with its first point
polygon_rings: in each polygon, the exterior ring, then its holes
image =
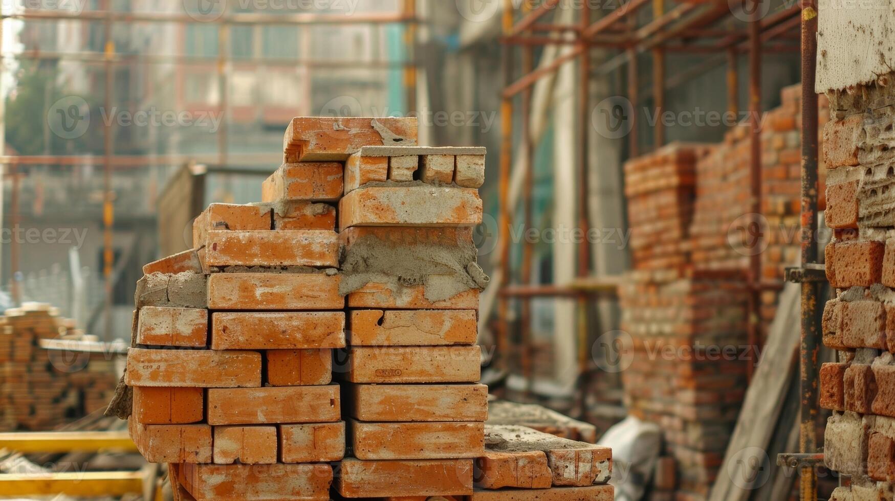
{"type": "Polygon", "coordinates": [[[280,425],[280,461],[317,463],[345,457],[345,421],[280,425]]]}

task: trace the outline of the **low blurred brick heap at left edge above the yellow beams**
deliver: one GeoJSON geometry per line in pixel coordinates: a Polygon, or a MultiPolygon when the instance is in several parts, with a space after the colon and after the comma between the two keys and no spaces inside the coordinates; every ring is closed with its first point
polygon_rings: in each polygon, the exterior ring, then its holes
{"type": "Polygon", "coordinates": [[[41,339],[94,340],[44,303],[0,317],[0,428],[53,429],[103,409],[115,392],[115,357],[49,352],[41,339]]]}

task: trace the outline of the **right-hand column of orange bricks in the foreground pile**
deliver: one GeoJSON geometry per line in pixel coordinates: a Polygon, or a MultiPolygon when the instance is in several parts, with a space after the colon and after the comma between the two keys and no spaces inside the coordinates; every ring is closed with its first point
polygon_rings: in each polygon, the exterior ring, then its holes
{"type": "Polygon", "coordinates": [[[346,162],[345,179],[342,271],[347,281],[357,276],[351,288],[360,288],[347,295],[350,457],[342,462],[338,492],[472,494],[473,458],[483,454],[488,414],[488,387],[476,384],[479,291],[433,297],[432,277],[402,284],[383,272],[387,259],[395,259],[393,271],[402,278],[414,267],[442,266],[441,255],[463,259],[472,252],[474,259],[484,149],[362,148],[346,162]]]}

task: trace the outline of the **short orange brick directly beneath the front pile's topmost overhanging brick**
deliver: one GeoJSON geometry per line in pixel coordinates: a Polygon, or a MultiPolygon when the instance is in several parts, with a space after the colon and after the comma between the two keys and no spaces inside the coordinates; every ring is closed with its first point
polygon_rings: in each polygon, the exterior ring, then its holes
{"type": "Polygon", "coordinates": [[[285,162],[261,183],[261,201],[336,201],[342,196],[342,164],[285,162]]]}

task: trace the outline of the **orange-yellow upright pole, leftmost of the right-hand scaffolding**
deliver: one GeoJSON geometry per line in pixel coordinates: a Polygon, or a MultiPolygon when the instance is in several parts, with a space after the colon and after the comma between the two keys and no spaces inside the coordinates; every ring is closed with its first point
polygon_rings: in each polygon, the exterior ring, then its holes
{"type": "MultiPolygon", "coordinates": [[[[503,4],[503,32],[506,35],[513,30],[513,2],[504,0],[503,4]]],[[[502,49],[503,78],[506,88],[513,81],[512,52],[509,44],[504,44],[502,49]]],[[[509,284],[509,173],[513,162],[513,97],[504,94],[500,101],[500,171],[498,180],[499,200],[499,256],[500,256],[500,282],[499,291],[509,284]]],[[[507,369],[509,350],[509,304],[507,297],[498,294],[498,329],[496,362],[500,369],[507,369]]]]}

